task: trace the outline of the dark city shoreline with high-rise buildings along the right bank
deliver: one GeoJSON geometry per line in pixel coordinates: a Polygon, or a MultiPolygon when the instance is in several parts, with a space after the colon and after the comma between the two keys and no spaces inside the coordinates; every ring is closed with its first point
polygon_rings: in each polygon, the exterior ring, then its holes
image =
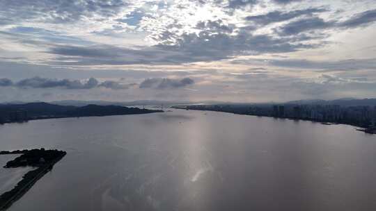
{"type": "Polygon", "coordinates": [[[351,124],[376,129],[376,106],[341,105],[189,105],[192,110],[214,110],[240,115],[303,119],[338,124],[351,124]]]}

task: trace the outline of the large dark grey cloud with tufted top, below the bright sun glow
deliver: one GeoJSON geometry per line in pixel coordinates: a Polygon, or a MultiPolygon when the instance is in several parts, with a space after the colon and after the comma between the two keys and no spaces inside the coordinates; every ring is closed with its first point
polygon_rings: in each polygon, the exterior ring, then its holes
{"type": "Polygon", "coordinates": [[[231,26],[221,20],[198,23],[199,33],[185,33],[175,44],[158,44],[159,49],[175,52],[169,60],[179,62],[223,60],[239,55],[260,55],[263,53],[287,53],[300,49],[315,48],[315,44],[299,43],[306,37],[273,37],[253,35],[248,30],[232,31],[231,26]],[[219,30],[219,28],[221,28],[219,30]]]}

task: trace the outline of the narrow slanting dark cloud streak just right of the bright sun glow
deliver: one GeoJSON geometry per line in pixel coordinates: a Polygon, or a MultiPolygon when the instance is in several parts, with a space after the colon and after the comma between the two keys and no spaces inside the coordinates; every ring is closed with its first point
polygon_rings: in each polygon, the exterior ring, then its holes
{"type": "Polygon", "coordinates": [[[327,10],[323,8],[308,8],[306,10],[292,10],[289,12],[273,11],[268,12],[265,15],[248,16],[245,19],[256,24],[267,25],[275,22],[284,22],[295,17],[301,17],[303,15],[313,15],[314,13],[325,11],[327,10]]]}

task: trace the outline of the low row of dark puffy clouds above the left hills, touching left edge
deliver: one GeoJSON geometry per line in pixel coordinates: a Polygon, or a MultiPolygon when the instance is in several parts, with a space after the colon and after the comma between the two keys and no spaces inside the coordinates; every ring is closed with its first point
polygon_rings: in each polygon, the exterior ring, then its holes
{"type": "Polygon", "coordinates": [[[53,79],[53,78],[25,78],[18,82],[13,82],[8,78],[0,78],[0,86],[14,86],[20,88],[55,88],[62,87],[69,90],[83,90],[83,89],[93,89],[95,87],[106,87],[112,90],[122,90],[127,89],[127,85],[121,85],[116,81],[104,81],[99,83],[95,78],[89,78],[88,81],[82,83],[79,80],[69,80],[69,79],[53,79]]]}

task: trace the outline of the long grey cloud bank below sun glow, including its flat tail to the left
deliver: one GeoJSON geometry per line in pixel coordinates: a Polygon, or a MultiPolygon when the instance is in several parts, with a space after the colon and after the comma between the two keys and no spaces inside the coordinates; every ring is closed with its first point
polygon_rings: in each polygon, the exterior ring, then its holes
{"type": "Polygon", "coordinates": [[[200,33],[185,33],[173,44],[157,44],[153,47],[129,49],[113,45],[90,47],[53,46],[47,51],[58,58],[49,65],[133,65],[133,64],[180,64],[223,60],[232,56],[262,53],[285,53],[314,48],[313,44],[301,44],[300,38],[279,38],[270,35],[252,35],[240,31],[231,35],[232,26],[220,20],[198,23],[200,33]]]}

